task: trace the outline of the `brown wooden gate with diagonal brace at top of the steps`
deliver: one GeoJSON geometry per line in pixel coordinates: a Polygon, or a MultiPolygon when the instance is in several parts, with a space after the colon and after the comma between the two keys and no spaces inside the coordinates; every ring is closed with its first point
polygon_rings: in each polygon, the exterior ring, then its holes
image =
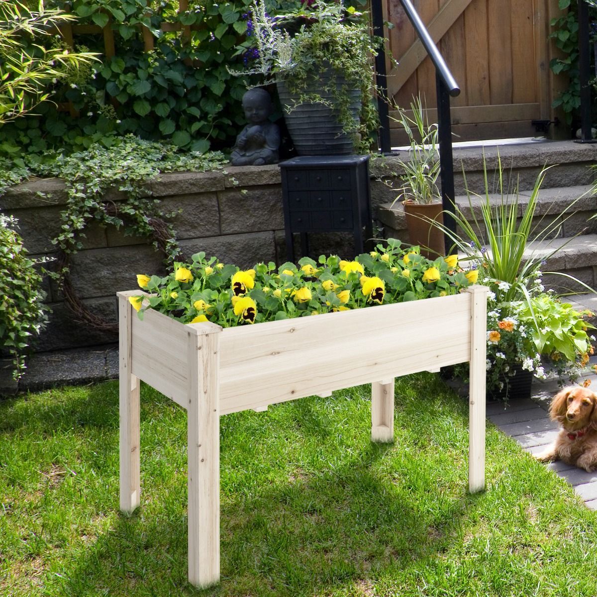
{"type": "MultiPolygon", "coordinates": [[[[549,20],[557,0],[414,0],[458,85],[452,100],[454,141],[528,137],[533,119],[551,119],[549,20]]],[[[392,56],[389,96],[408,107],[419,93],[436,121],[435,68],[399,0],[387,0],[392,56]]],[[[391,110],[391,108],[390,108],[391,110]]],[[[390,116],[392,112],[390,111],[390,116]]],[[[405,137],[392,128],[392,145],[405,137]]]]}

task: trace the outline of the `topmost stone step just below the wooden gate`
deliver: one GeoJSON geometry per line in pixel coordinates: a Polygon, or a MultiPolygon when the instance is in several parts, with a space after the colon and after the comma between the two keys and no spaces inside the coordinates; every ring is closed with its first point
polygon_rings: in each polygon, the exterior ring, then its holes
{"type": "MultiPolygon", "coordinates": [[[[400,183],[396,176],[402,173],[398,161],[407,161],[409,152],[401,150],[397,155],[371,160],[370,170],[376,187],[378,202],[392,202],[398,195],[400,183]]],[[[456,195],[464,195],[466,189],[473,193],[485,193],[485,174],[490,193],[499,186],[498,163],[501,162],[504,192],[506,189],[533,189],[541,170],[550,167],[545,174],[543,188],[570,187],[590,184],[595,180],[592,165],[597,163],[597,144],[580,144],[574,141],[530,140],[517,144],[497,144],[488,141],[478,147],[455,147],[454,186],[456,195]],[[466,183],[465,183],[466,180],[466,183]]],[[[374,206],[375,207],[375,206],[374,206]]]]}

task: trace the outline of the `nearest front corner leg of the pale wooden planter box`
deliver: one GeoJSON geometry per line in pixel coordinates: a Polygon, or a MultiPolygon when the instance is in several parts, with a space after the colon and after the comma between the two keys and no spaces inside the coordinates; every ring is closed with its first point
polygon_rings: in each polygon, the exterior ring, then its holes
{"type": "Polygon", "coordinates": [[[189,582],[220,580],[219,336],[189,330],[189,582]]]}

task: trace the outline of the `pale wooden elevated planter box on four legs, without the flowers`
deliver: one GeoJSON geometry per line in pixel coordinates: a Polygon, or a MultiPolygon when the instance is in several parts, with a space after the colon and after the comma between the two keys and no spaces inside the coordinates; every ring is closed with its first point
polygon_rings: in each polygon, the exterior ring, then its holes
{"type": "Polygon", "coordinates": [[[220,415],[372,383],[371,439],[393,441],[394,377],[470,361],[469,490],[485,487],[487,288],[221,328],[120,312],[120,507],[140,503],[139,380],[188,414],[189,581],[220,578],[220,415]]]}

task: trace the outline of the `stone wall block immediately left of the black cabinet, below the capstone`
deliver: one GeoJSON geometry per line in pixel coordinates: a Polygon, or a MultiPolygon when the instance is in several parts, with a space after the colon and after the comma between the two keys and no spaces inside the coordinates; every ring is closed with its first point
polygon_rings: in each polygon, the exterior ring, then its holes
{"type": "Polygon", "coordinates": [[[226,189],[218,193],[218,201],[222,234],[284,228],[280,187],[251,188],[244,194],[240,189],[226,189]]]}

